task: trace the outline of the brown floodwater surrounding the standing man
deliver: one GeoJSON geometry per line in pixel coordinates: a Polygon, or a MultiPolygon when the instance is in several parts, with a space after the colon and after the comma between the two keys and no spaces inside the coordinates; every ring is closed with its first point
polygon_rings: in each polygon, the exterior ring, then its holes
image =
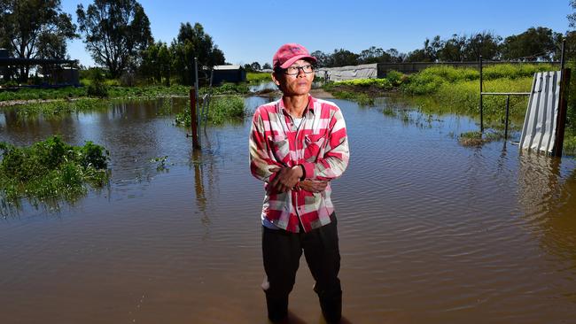
{"type": "MultiPolygon", "coordinates": [[[[348,322],[574,322],[572,157],[504,142],[466,148],[455,135],[478,129],[467,117],[333,101],[351,148],[333,181],[348,322]]],[[[109,188],[59,208],[22,204],[0,220],[3,324],[267,323],[249,121],[207,127],[195,152],[162,106],[58,120],[0,112],[0,141],[60,134],[112,158],[109,188]],[[164,169],[150,161],[165,156],[164,169]]],[[[292,322],[323,322],[312,285],[302,258],[292,322]]]]}

